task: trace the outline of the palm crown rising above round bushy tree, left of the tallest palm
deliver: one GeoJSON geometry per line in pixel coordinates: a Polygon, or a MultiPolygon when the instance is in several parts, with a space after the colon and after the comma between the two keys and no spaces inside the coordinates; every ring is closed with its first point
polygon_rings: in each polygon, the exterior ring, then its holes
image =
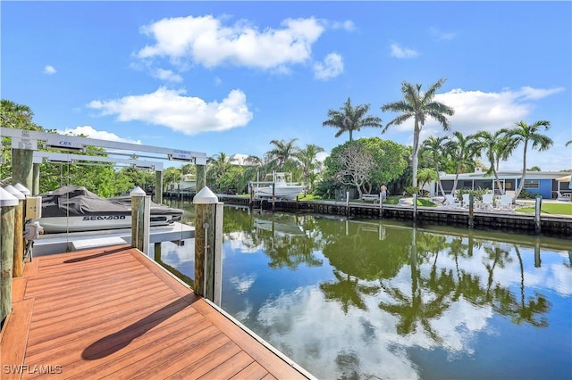
{"type": "Polygon", "coordinates": [[[348,98],[346,103],[343,103],[340,111],[329,110],[328,120],[322,123],[323,127],[339,128],[335,134],[340,137],[344,132],[349,132],[349,141],[353,141],[353,132],[359,131],[364,127],[382,128],[382,120],[377,116],[367,116],[369,111],[369,104],[359,104],[356,107],[351,106],[351,101],[348,98]]]}

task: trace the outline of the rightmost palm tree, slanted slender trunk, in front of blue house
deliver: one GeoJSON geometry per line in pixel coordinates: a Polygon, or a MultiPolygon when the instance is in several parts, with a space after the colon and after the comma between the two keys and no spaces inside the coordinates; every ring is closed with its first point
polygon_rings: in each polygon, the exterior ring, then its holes
{"type": "Polygon", "coordinates": [[[539,120],[536,121],[532,125],[528,125],[525,121],[519,121],[516,123],[517,128],[510,129],[507,133],[508,136],[515,139],[517,145],[520,143],[524,143],[525,147],[523,149],[523,157],[522,157],[522,178],[518,183],[517,192],[515,193],[515,197],[513,202],[517,200],[518,195],[522,191],[523,187],[525,186],[525,177],[526,177],[526,153],[528,151],[529,143],[532,143],[533,149],[538,149],[539,152],[543,152],[549,149],[553,142],[549,136],[545,136],[539,133],[541,128],[549,129],[551,128],[551,122],[548,120],[539,120]]]}

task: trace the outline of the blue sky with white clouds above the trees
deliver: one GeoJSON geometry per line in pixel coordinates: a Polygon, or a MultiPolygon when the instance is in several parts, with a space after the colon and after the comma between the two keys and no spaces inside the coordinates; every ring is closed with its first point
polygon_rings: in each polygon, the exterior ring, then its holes
{"type": "MultiPolygon", "coordinates": [[[[396,114],[401,82],[447,81],[452,130],[550,120],[527,166],[572,168],[571,2],[12,2],[1,8],[1,95],[36,123],[145,145],[262,155],[273,139],[348,140],[330,109],[396,114]]],[[[413,123],[364,128],[411,145],[413,123]]],[[[421,135],[442,136],[429,120],[421,135]]],[[[521,169],[522,149],[501,169],[521,169]]]]}

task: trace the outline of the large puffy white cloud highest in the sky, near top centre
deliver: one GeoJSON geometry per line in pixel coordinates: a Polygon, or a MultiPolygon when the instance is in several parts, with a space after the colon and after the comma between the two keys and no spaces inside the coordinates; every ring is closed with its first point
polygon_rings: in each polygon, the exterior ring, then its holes
{"type": "Polygon", "coordinates": [[[312,45],[324,33],[322,23],[287,19],[282,27],[259,30],[246,21],[224,26],[223,19],[211,15],[163,19],[141,29],[156,44],[146,45],[137,56],[167,57],[177,65],[191,61],[210,68],[230,63],[263,70],[307,62],[312,45]]]}

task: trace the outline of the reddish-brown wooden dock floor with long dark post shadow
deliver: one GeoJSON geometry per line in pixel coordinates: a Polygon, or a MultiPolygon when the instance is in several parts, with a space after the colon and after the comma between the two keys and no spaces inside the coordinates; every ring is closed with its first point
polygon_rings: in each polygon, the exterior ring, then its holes
{"type": "Polygon", "coordinates": [[[0,339],[2,379],[312,377],[127,244],[26,263],[0,339]]]}

